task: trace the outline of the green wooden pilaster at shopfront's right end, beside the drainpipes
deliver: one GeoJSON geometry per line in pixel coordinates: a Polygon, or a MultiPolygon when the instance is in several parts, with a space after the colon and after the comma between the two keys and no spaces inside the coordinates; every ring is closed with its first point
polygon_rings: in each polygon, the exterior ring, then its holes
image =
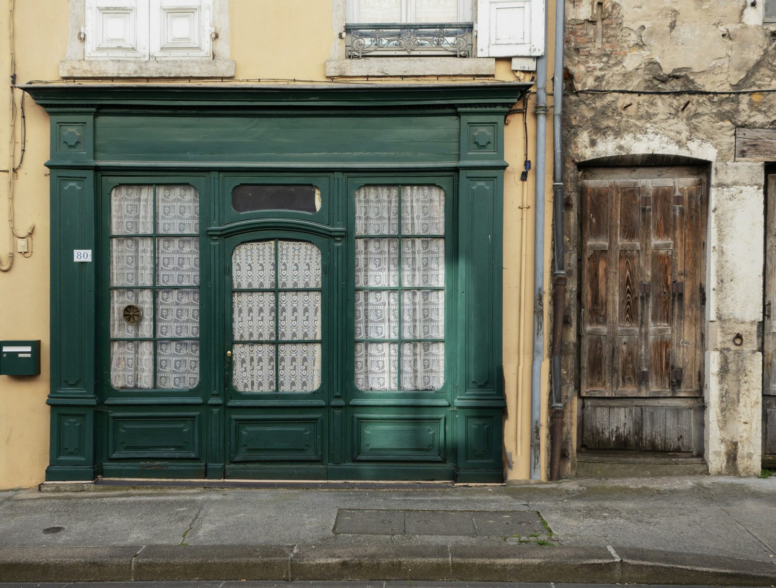
{"type": "Polygon", "coordinates": [[[504,111],[460,108],[457,479],[501,482],[504,111]]]}

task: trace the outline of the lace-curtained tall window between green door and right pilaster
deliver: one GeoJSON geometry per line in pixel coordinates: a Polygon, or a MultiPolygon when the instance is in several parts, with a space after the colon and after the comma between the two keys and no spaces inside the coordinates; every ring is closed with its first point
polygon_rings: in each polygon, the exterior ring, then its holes
{"type": "Polygon", "coordinates": [[[355,232],[355,386],[440,389],[445,192],[365,186],[355,192],[355,232]]]}

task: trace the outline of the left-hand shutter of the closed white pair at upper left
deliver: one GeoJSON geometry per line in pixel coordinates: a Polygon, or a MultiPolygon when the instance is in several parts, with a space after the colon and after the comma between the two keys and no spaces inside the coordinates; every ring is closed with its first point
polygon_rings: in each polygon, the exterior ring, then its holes
{"type": "Polygon", "coordinates": [[[86,0],[86,59],[147,59],[148,0],[86,0]]]}

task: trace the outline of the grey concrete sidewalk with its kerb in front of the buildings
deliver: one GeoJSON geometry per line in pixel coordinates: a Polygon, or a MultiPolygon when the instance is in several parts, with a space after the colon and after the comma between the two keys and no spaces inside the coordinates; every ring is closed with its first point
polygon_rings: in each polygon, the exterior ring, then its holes
{"type": "Polygon", "coordinates": [[[776,479],[208,486],[0,493],[0,581],[776,583],[776,479]]]}

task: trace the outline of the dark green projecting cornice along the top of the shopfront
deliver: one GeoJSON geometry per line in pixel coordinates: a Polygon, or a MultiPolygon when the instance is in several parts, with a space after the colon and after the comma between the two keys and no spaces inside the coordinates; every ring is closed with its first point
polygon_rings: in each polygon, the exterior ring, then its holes
{"type": "Polygon", "coordinates": [[[19,85],[47,112],[57,109],[478,109],[500,112],[532,84],[196,85],[75,84],[19,85]]]}

